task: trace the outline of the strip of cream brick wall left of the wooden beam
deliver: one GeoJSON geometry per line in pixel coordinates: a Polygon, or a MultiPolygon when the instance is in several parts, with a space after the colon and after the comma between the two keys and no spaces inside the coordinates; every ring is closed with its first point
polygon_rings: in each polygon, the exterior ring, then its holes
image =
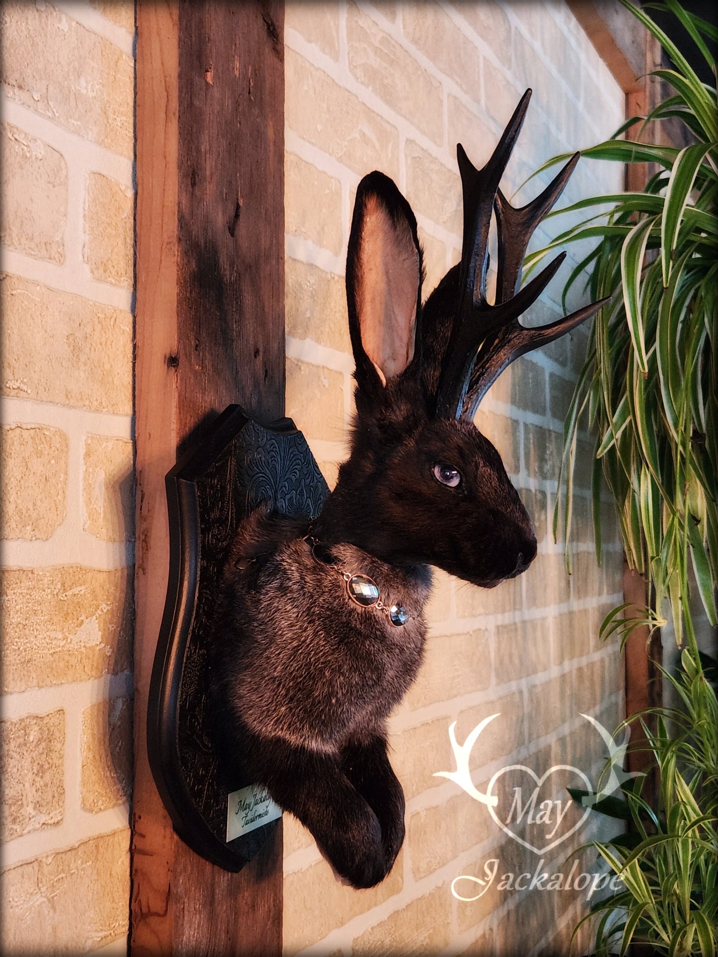
{"type": "Polygon", "coordinates": [[[3,953],[125,951],[133,33],[2,10],[3,953]]]}

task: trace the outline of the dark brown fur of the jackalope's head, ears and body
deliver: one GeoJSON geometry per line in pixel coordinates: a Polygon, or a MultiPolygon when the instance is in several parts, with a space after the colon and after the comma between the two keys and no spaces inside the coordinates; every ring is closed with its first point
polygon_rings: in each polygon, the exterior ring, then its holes
{"type": "MultiPolygon", "coordinates": [[[[382,255],[393,255],[389,245],[382,255]]],[[[306,523],[258,510],[237,532],[216,637],[227,760],[296,814],[355,887],[386,877],[404,836],[386,719],[421,663],[429,566],[490,588],[527,568],[536,552],[494,447],[471,423],[434,414],[459,273],[447,274],[423,310],[420,275],[414,214],[391,180],[372,173],[358,189],[348,251],[357,381],[351,454],[312,534],[341,568],[369,575],[382,601],[403,605],[413,618],[394,627],[376,609],[355,605],[339,572],[313,557],[306,523]],[[367,210],[376,208],[390,240],[386,223],[395,231],[403,256],[396,268],[402,277],[416,272],[415,302],[397,303],[410,318],[416,306],[414,355],[386,384],[363,346],[370,323],[380,320],[361,314],[368,299],[362,268],[369,263],[371,275],[380,273],[362,245],[367,210]],[[408,235],[415,261],[405,255],[408,235]],[[460,485],[440,484],[437,464],[456,468],[460,485]]],[[[414,335],[403,331],[412,328],[407,319],[395,334],[414,335]]],[[[397,342],[396,354],[407,354],[406,345],[397,342]]]]}

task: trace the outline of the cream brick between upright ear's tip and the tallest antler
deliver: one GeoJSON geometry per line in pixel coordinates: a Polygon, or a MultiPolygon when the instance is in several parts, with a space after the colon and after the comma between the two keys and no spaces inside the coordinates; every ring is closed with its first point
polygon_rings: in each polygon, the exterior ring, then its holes
{"type": "Polygon", "coordinates": [[[412,209],[460,236],[461,184],[458,174],[412,140],[407,141],[405,158],[406,197],[412,209]]]}

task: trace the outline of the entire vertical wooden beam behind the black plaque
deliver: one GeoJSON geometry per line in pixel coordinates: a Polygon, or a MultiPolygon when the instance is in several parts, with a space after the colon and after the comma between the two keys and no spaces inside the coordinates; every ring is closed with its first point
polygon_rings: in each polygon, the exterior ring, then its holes
{"type": "Polygon", "coordinates": [[[283,4],[137,8],[132,951],[279,954],[281,833],[239,874],[174,835],[146,757],[168,579],[165,475],[231,402],[283,414],[283,4]]]}

